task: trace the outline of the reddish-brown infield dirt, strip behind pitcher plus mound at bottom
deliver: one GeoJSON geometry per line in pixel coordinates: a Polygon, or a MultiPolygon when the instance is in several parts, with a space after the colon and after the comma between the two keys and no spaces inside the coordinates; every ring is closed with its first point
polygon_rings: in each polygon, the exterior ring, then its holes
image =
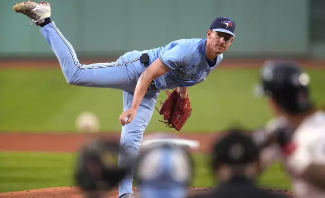
{"type": "MultiPolygon", "coordinates": [[[[218,138],[222,133],[177,133],[181,138],[197,140],[200,142],[200,149],[193,152],[209,152],[210,142],[218,138]]],[[[105,137],[119,139],[120,133],[0,133],[0,151],[24,151],[24,152],[77,152],[79,147],[93,138],[105,137]]],[[[146,135],[144,135],[146,137],[146,135]]],[[[191,187],[188,194],[204,193],[212,188],[191,187]]],[[[276,193],[288,193],[290,191],[278,189],[266,189],[276,193]]],[[[137,189],[134,188],[136,192],[137,189]]],[[[57,186],[45,189],[31,189],[17,192],[0,193],[1,198],[82,198],[84,197],[77,187],[57,186]]],[[[117,189],[107,193],[107,198],[117,198],[117,189]]]]}

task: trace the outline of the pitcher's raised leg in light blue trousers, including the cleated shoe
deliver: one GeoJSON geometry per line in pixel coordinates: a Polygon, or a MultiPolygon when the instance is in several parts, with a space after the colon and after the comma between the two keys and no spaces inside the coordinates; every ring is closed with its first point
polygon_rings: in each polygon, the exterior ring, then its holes
{"type": "Polygon", "coordinates": [[[132,64],[141,64],[140,57],[132,56],[130,60],[124,58],[112,63],[80,64],[70,42],[63,36],[56,24],[50,21],[48,3],[23,2],[16,4],[14,10],[31,18],[36,25],[42,26],[40,31],[57,56],[69,84],[123,90],[134,86],[139,76],[139,68],[141,70],[142,67],[135,68],[132,64]]]}

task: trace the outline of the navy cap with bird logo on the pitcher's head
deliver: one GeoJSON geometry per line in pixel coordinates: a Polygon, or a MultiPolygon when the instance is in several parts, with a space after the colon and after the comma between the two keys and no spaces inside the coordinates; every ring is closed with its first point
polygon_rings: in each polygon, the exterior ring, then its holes
{"type": "MultiPolygon", "coordinates": [[[[236,23],[226,17],[218,17],[210,25],[210,30],[217,32],[225,32],[235,36],[236,23]]],[[[236,36],[235,36],[236,37],[236,36]]]]}

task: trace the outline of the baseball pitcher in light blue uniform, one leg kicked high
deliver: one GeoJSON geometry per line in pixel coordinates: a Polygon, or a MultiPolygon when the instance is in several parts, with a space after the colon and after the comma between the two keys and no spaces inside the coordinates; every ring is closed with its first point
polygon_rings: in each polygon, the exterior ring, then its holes
{"type": "MultiPolygon", "coordinates": [[[[175,40],[162,47],[128,52],[115,62],[84,65],[79,63],[73,46],[51,21],[49,3],[22,2],[13,9],[41,27],[40,32],[57,56],[69,84],[123,90],[120,143],[135,157],[160,90],[174,89],[168,92],[167,100],[158,111],[168,125],[181,130],[192,111],[187,87],[205,80],[220,64],[235,37],[235,22],[216,18],[206,38],[175,40]]],[[[122,165],[125,161],[121,155],[119,163],[122,165]]],[[[122,180],[120,197],[132,197],[132,181],[133,174],[122,180]]]]}

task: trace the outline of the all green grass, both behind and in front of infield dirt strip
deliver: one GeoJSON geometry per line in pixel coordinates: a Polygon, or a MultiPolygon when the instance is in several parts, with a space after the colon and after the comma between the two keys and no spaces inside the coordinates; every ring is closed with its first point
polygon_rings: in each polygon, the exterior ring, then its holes
{"type": "MultiPolygon", "coordinates": [[[[258,70],[222,69],[189,88],[193,112],[183,131],[221,131],[238,122],[260,127],[272,117],[263,98],[254,96],[258,70]]],[[[325,70],[308,69],[317,105],[325,103],[325,70]]],[[[98,115],[102,131],[120,131],[122,91],[77,87],[66,83],[60,70],[0,70],[0,131],[75,131],[83,111],[98,115]]],[[[159,99],[167,95],[162,92],[159,99]]],[[[147,131],[174,131],[158,122],[157,112],[147,131]]],[[[73,154],[0,153],[0,192],[73,185],[73,154]]],[[[193,186],[212,186],[202,155],[195,155],[193,186]]],[[[276,164],[260,178],[267,187],[290,189],[288,177],[276,164]]]]}

